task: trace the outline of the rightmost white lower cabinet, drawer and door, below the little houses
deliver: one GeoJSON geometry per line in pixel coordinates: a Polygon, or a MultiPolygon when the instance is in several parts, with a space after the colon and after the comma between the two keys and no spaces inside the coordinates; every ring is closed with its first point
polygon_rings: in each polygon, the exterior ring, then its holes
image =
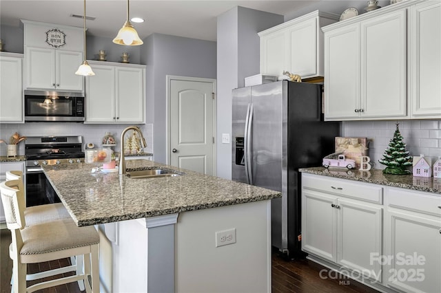
{"type": "Polygon", "coordinates": [[[441,292],[441,197],[387,189],[384,282],[400,292],[441,292]]]}

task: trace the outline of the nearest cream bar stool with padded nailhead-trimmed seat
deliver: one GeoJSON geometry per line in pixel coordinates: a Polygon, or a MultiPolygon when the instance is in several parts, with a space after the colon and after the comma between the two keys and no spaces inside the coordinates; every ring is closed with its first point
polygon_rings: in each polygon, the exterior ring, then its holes
{"type": "Polygon", "coordinates": [[[11,230],[10,257],[13,261],[14,292],[34,292],[43,288],[82,280],[86,292],[99,292],[99,235],[93,226],[79,228],[72,219],[59,219],[25,226],[21,180],[0,183],[6,226],[11,230]],[[26,264],[63,259],[83,254],[84,273],[45,281],[26,287],[26,264]],[[92,284],[90,284],[88,277],[92,284]]]}

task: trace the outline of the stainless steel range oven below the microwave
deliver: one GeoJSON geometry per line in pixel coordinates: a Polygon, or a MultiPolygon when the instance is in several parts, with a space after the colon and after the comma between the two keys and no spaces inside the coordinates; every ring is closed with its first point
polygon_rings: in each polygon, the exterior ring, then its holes
{"type": "Polygon", "coordinates": [[[42,165],[84,162],[81,136],[32,136],[25,140],[26,206],[60,202],[42,165]]]}

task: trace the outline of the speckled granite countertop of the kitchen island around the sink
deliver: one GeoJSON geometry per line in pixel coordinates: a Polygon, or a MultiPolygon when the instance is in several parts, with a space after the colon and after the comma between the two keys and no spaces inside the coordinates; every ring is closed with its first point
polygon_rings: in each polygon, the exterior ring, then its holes
{"type": "Polygon", "coordinates": [[[172,169],[176,177],[135,179],[92,173],[92,164],[43,166],[77,226],[124,221],[281,197],[277,191],[203,175],[150,160],[127,160],[127,171],[172,169]]]}

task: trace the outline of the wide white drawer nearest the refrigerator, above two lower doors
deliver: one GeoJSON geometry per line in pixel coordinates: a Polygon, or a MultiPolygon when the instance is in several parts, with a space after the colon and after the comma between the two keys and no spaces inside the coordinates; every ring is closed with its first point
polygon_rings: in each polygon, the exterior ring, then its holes
{"type": "Polygon", "coordinates": [[[330,179],[320,175],[302,174],[304,188],[334,193],[365,202],[382,204],[383,188],[376,184],[353,183],[351,180],[330,179]]]}

